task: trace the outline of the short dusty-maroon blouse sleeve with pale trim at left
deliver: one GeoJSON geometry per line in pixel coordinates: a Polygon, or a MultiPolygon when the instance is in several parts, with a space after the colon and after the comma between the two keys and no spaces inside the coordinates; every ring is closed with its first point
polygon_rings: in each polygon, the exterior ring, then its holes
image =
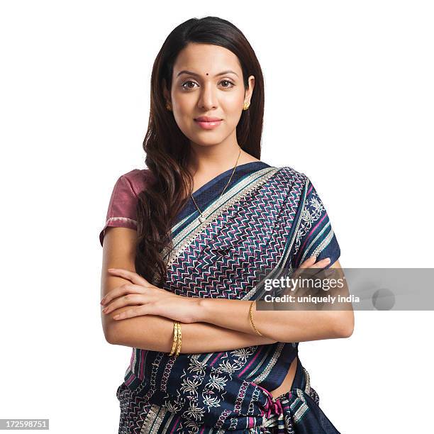
{"type": "Polygon", "coordinates": [[[138,177],[142,171],[134,169],[118,178],[113,187],[106,214],[106,224],[99,233],[99,242],[103,245],[108,227],[137,229],[136,207],[138,203],[138,177]]]}

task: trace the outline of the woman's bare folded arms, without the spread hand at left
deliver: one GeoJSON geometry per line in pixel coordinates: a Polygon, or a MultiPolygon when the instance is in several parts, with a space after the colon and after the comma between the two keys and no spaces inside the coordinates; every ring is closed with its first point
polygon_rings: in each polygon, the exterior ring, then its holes
{"type": "MultiPolygon", "coordinates": [[[[123,284],[131,284],[131,281],[126,279],[126,274],[124,277],[113,275],[107,269],[116,268],[135,272],[136,236],[136,231],[128,228],[106,230],[101,298],[105,298],[107,294],[123,284]]],[[[322,267],[325,265],[326,262],[322,267]]],[[[339,262],[336,261],[331,267],[339,268],[339,262]]],[[[116,307],[118,302],[113,299],[110,301],[106,304],[111,306],[109,313],[101,312],[104,335],[109,343],[162,352],[170,352],[172,348],[173,318],[169,317],[170,309],[172,312],[182,309],[189,312],[189,321],[180,321],[182,322],[181,352],[185,353],[228,351],[276,342],[347,338],[352,334],[354,327],[352,310],[254,311],[255,326],[264,335],[260,336],[250,325],[251,301],[172,296],[165,303],[167,316],[146,313],[118,320],[113,319],[113,316],[130,311],[132,306],[116,307]]],[[[136,303],[132,304],[136,305],[136,303]]],[[[126,313],[123,315],[126,316],[126,313]]]]}

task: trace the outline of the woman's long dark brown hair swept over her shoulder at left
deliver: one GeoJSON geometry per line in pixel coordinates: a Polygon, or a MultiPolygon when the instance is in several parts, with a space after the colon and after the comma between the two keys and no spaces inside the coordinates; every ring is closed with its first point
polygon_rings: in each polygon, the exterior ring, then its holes
{"type": "Polygon", "coordinates": [[[248,77],[255,76],[255,89],[248,110],[237,126],[237,140],[245,152],[260,160],[264,117],[264,78],[254,50],[243,33],[229,21],[216,16],[191,18],[167,36],[155,59],[151,75],[150,116],[143,141],[148,167],[146,188],[137,206],[138,242],[135,269],[151,284],[164,284],[167,262],[162,252],[172,249],[172,222],[189,198],[193,179],[187,167],[191,157],[189,139],[167,110],[163,89],[172,88],[173,65],[179,52],[189,43],[220,45],[233,52],[248,77]]]}

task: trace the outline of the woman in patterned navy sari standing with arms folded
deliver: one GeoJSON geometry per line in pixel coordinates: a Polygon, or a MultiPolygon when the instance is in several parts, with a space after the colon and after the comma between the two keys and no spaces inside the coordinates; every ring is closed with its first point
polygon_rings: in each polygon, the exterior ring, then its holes
{"type": "Polygon", "coordinates": [[[352,310],[255,309],[265,269],[340,255],[306,175],[260,161],[255,52],[228,21],[193,18],[151,81],[148,168],[118,178],[100,233],[104,334],[133,348],[119,433],[338,433],[298,343],[351,335],[352,310]]]}

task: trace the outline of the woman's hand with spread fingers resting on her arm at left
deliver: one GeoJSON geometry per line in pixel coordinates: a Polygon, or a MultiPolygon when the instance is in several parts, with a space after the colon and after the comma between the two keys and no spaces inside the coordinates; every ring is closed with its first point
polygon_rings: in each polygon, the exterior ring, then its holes
{"type": "Polygon", "coordinates": [[[141,315],[158,315],[182,323],[196,322],[198,299],[179,296],[150,284],[146,279],[127,269],[109,268],[110,274],[128,279],[130,284],[122,284],[109,291],[102,305],[104,314],[123,306],[133,306],[118,313],[113,319],[132,318],[141,315]]]}

